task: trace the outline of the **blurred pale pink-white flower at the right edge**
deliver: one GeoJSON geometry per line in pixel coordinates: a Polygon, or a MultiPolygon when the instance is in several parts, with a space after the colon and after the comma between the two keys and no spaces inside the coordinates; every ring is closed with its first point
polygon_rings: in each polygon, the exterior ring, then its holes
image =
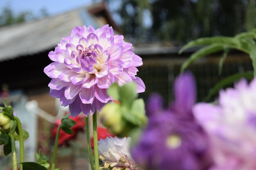
{"type": "Polygon", "coordinates": [[[256,78],[220,91],[218,104],[197,104],[193,113],[210,136],[212,170],[256,169],[256,78]]]}

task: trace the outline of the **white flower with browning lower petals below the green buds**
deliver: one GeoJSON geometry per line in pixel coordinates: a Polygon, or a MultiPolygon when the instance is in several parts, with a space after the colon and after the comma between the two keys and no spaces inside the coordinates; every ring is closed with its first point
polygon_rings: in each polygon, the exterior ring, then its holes
{"type": "Polygon", "coordinates": [[[141,170],[130,155],[130,137],[107,137],[99,142],[99,158],[111,170],[141,170]]]}

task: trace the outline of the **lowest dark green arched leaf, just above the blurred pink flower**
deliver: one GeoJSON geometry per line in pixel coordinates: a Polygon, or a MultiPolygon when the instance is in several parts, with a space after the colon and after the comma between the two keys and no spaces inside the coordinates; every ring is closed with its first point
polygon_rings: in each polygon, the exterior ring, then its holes
{"type": "Polygon", "coordinates": [[[207,97],[205,97],[204,101],[209,100],[214,94],[218,93],[218,91],[222,88],[224,88],[227,85],[233,84],[234,82],[236,82],[237,80],[241,79],[241,78],[247,78],[247,79],[252,79],[253,76],[253,72],[252,71],[247,71],[245,73],[238,73],[235,75],[231,75],[225,79],[222,79],[220,82],[218,82],[218,84],[216,84],[213,88],[210,89],[207,97]]]}

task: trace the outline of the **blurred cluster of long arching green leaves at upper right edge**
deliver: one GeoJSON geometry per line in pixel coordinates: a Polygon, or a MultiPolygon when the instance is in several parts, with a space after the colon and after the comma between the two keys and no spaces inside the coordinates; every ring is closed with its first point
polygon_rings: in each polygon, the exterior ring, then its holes
{"type": "Polygon", "coordinates": [[[189,57],[189,59],[187,59],[182,64],[181,71],[184,71],[190,64],[192,64],[195,60],[201,57],[217,53],[220,51],[224,51],[219,62],[219,73],[221,73],[223,63],[230,49],[236,49],[239,51],[243,51],[247,54],[250,54],[251,59],[253,61],[254,70],[256,70],[256,52],[254,48],[256,46],[256,42],[254,41],[255,38],[256,31],[253,30],[245,33],[240,33],[234,37],[216,36],[211,38],[198,38],[197,40],[193,40],[185,46],[183,46],[182,49],[180,49],[179,53],[182,53],[184,50],[189,49],[193,46],[205,46],[199,49],[198,51],[195,51],[189,57]]]}

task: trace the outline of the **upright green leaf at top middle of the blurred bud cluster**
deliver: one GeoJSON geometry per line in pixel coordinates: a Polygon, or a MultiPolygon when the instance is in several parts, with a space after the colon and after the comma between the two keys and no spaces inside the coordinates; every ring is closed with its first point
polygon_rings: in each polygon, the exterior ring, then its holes
{"type": "Polygon", "coordinates": [[[119,95],[120,102],[122,106],[130,108],[132,102],[137,98],[138,94],[136,93],[137,85],[134,82],[128,82],[120,87],[119,95]]]}

